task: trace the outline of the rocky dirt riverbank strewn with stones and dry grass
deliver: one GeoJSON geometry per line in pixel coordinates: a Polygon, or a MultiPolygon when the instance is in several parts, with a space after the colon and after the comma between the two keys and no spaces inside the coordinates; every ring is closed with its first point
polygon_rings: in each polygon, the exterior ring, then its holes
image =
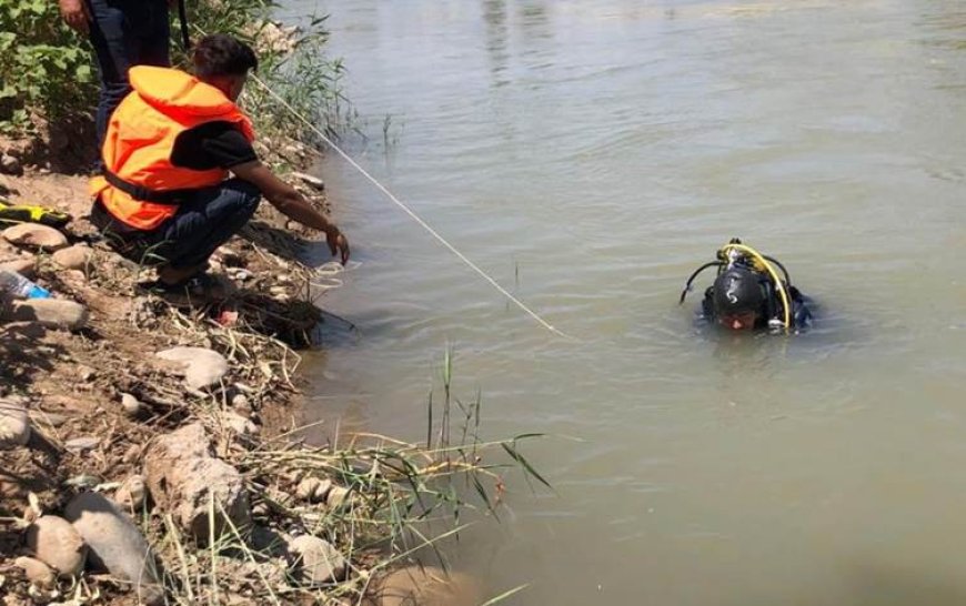
{"type": "Polygon", "coordinates": [[[385,517],[470,467],[373,436],[299,440],[295,350],[321,321],[305,234],[263,205],[212,260],[230,296],[177,301],[99,239],[85,179],[0,175],[0,196],[72,216],[0,231],[0,269],[53,295],[0,305],[0,603],[481,602],[406,566],[385,517]]]}

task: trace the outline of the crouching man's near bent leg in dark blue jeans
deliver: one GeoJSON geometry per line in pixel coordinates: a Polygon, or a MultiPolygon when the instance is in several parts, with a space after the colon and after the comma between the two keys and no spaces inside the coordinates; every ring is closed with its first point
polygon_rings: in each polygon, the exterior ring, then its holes
{"type": "Polygon", "coordinates": [[[161,269],[161,281],[178,283],[198,273],[208,257],[248,223],[260,199],[259,189],[241,179],[195,193],[160,229],[163,244],[159,254],[168,261],[161,269]]]}

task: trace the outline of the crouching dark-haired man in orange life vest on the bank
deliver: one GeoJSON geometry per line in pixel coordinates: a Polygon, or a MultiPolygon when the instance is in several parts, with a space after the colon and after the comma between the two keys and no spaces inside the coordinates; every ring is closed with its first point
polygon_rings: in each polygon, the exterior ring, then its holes
{"type": "Polygon", "coordinates": [[[251,120],[235,101],[258,67],[254,51],[230,36],[208,36],[193,62],[194,75],[131,68],[133,91],[111,117],[103,174],[91,180],[91,222],[122,255],[158,264],[163,290],[215,290],[208,259],[251,219],[262,195],[288,218],[323,232],[344,264],[345,236],[252,148],[251,120]]]}

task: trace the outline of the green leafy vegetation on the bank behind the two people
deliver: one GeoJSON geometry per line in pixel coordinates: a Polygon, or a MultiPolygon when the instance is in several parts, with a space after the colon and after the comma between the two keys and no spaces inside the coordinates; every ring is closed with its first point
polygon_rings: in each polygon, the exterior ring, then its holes
{"type": "MultiPolygon", "coordinates": [[[[298,28],[281,27],[272,20],[278,8],[273,0],[188,2],[191,37],[223,32],[250,43],[259,54],[259,78],[334,134],[350,109],[339,84],[342,62],[325,54],[325,17],[306,17],[298,28]]],[[[172,61],[187,68],[177,11],[171,12],[172,61]]],[[[92,120],[98,87],[93,63],[90,44],[63,23],[57,2],[0,0],[0,132],[29,132],[31,117],[92,120]]],[[[249,87],[242,102],[261,133],[318,143],[261,87],[249,87]]]]}

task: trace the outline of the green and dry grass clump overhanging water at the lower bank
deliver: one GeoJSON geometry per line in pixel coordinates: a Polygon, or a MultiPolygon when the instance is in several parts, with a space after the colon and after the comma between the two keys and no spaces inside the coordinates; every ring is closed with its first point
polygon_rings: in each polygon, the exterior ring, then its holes
{"type": "MultiPolygon", "coordinates": [[[[354,433],[309,446],[296,440],[306,428],[298,428],[229,448],[225,458],[243,473],[252,495],[254,527],[229,526],[191,548],[192,539],[170,519],[154,525],[171,603],[256,595],[260,604],[362,604],[398,567],[449,569],[449,542],[470,524],[499,522],[506,472],[519,469],[550,487],[520,450],[522,441],[539,434],[481,437],[482,404],[479,391],[467,400],[455,395],[447,352],[442,387],[427,398],[426,443],[354,433]],[[324,498],[308,496],[303,487],[313,482],[331,484],[324,498]],[[341,577],[315,587],[285,578],[276,565],[284,557],[282,537],[305,534],[329,542],[345,558],[341,577]],[[266,542],[272,535],[278,539],[266,542]]],[[[223,513],[210,506],[212,518],[223,513]]]]}

